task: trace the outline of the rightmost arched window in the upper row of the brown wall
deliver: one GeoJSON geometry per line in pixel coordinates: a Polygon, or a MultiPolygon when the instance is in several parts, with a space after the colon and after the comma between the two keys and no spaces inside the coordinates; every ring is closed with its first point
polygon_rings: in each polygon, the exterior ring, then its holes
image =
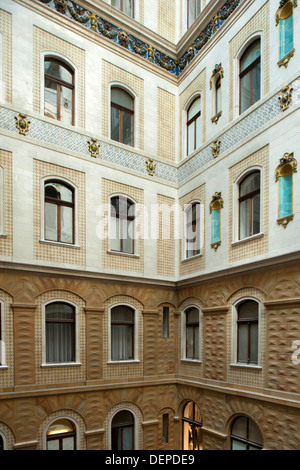
{"type": "Polygon", "coordinates": [[[245,300],[237,306],[237,362],[258,364],[258,303],[245,300]]]}

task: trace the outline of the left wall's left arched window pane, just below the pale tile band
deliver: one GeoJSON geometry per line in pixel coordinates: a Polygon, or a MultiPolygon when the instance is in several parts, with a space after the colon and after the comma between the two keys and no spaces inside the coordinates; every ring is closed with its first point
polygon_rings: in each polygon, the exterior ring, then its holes
{"type": "Polygon", "coordinates": [[[45,239],[74,243],[74,190],[60,181],[45,182],[45,239]]]}

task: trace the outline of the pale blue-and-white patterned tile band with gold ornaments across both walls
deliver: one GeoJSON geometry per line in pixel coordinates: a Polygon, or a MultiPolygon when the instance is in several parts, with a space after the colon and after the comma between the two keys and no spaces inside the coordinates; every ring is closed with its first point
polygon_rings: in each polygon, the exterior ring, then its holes
{"type": "MultiPolygon", "coordinates": [[[[300,78],[295,80],[290,86],[293,88],[291,105],[298,104],[300,102],[300,78]]],[[[227,153],[243,139],[249,138],[272,119],[282,115],[284,111],[280,108],[278,100],[280,95],[280,93],[274,95],[253,112],[245,116],[244,119],[238,121],[223,134],[220,134],[218,137],[221,142],[219,155],[222,156],[222,154],[227,153]]],[[[18,133],[19,131],[16,128],[15,121],[17,115],[17,112],[0,106],[0,128],[11,131],[12,133],[18,133]]],[[[57,147],[60,151],[65,153],[72,151],[79,155],[88,156],[91,159],[93,158],[89,153],[88,141],[90,140],[90,136],[88,134],[65,129],[55,123],[52,124],[35,117],[28,116],[28,119],[30,121],[29,132],[26,136],[22,136],[25,140],[30,137],[41,146],[43,146],[43,144],[50,145],[57,147]]],[[[99,143],[99,159],[116,165],[116,167],[120,169],[133,170],[148,177],[146,166],[148,156],[135,153],[130,150],[130,147],[127,150],[120,148],[118,145],[113,145],[113,143],[102,142],[100,137],[99,143]]],[[[199,170],[201,170],[204,165],[213,160],[212,144],[210,143],[189,160],[178,165],[178,168],[170,165],[168,162],[155,161],[155,177],[174,185],[182,184],[185,180],[193,177],[194,174],[198,174],[199,170]]],[[[149,176],[149,178],[151,178],[151,176],[149,176]]]]}

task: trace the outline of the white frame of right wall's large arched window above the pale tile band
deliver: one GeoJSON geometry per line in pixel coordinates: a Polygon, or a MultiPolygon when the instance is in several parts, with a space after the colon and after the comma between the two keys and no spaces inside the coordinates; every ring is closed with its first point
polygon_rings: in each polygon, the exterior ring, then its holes
{"type": "Polygon", "coordinates": [[[264,35],[263,31],[256,31],[255,33],[251,34],[247,38],[247,40],[243,43],[242,47],[239,49],[235,59],[233,60],[233,83],[232,83],[232,92],[233,92],[233,119],[245,115],[247,112],[252,111],[254,106],[257,106],[260,100],[263,98],[265,91],[264,91],[264,35]],[[252,42],[256,39],[260,39],[260,99],[246,109],[243,113],[240,113],[240,93],[241,93],[241,86],[240,86],[240,60],[242,55],[248,49],[252,42]]]}

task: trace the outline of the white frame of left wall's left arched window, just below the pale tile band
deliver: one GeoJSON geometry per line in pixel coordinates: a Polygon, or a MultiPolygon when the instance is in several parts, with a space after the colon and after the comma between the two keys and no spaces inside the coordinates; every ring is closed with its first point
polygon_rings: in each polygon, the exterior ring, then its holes
{"type": "Polygon", "coordinates": [[[48,243],[51,245],[59,245],[59,246],[67,246],[67,247],[75,247],[79,248],[79,223],[78,223],[78,211],[79,211],[79,196],[78,196],[78,188],[77,186],[67,178],[57,176],[57,175],[47,175],[41,178],[40,182],[40,207],[41,207],[41,239],[40,241],[42,243],[48,243]],[[46,240],[45,238],[45,184],[47,181],[53,181],[56,180],[58,182],[61,182],[62,184],[65,184],[67,186],[70,186],[73,190],[74,194],[74,227],[73,227],[73,233],[74,233],[74,240],[73,243],[64,243],[64,242],[57,242],[55,240],[46,240]]]}

